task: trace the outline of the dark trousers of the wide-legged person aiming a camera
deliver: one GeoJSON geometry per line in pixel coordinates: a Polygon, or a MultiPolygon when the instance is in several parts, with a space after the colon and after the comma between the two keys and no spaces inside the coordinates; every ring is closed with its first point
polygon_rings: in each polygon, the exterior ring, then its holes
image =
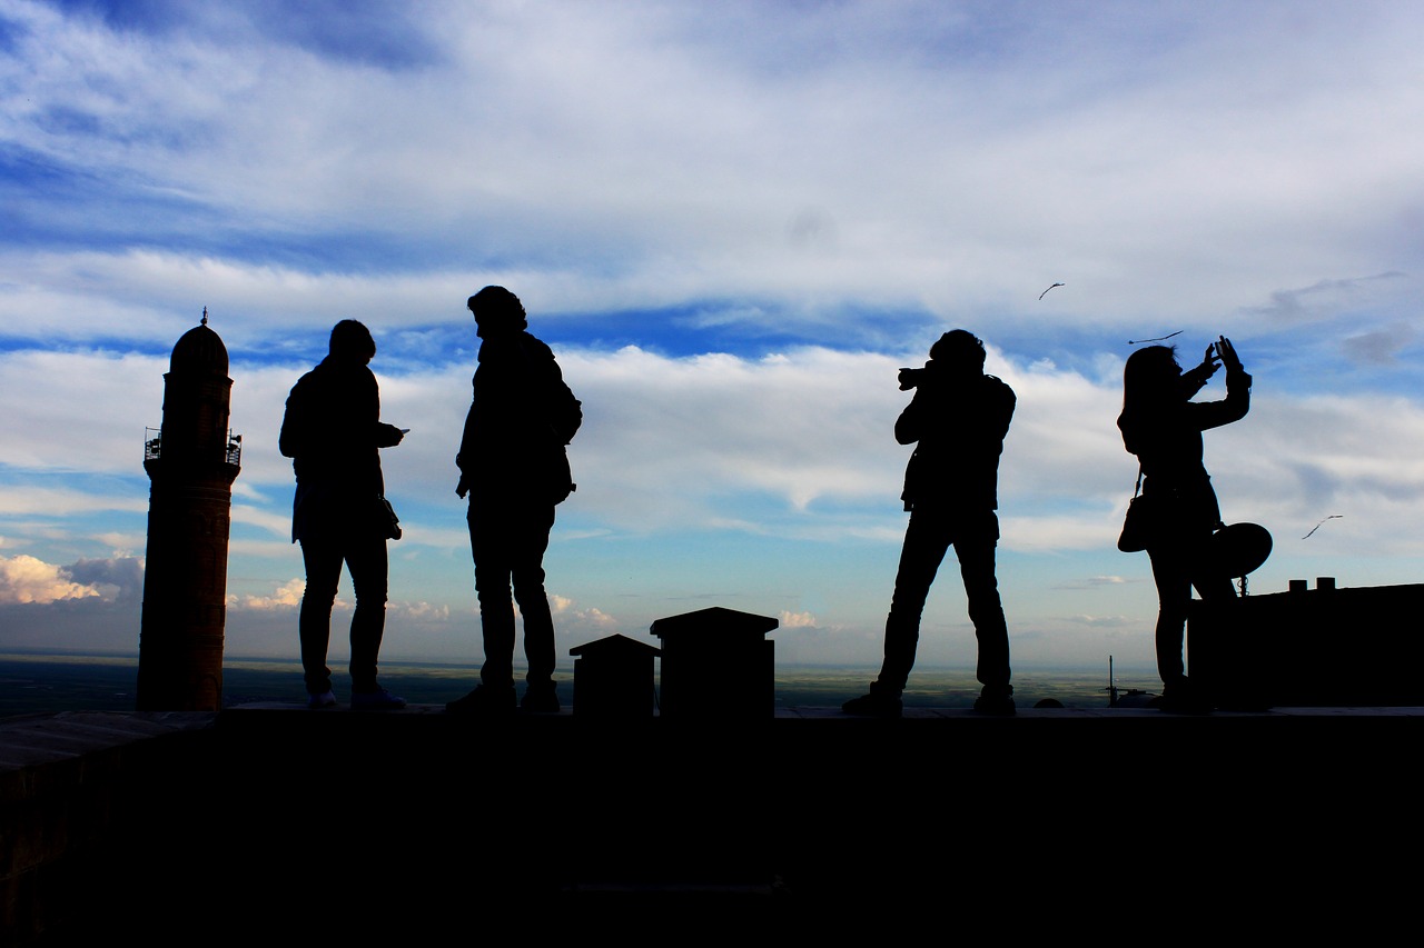
{"type": "Polygon", "coordinates": [[[970,621],[978,639],[978,680],[990,692],[1012,692],[1008,683],[1008,625],[994,576],[997,544],[998,517],[993,510],[965,512],[926,508],[923,504],[914,508],[904,531],[894,598],[886,619],[884,662],[871,692],[899,697],[904,690],[914,666],[924,601],[951,545],[960,559],[970,621]]]}

